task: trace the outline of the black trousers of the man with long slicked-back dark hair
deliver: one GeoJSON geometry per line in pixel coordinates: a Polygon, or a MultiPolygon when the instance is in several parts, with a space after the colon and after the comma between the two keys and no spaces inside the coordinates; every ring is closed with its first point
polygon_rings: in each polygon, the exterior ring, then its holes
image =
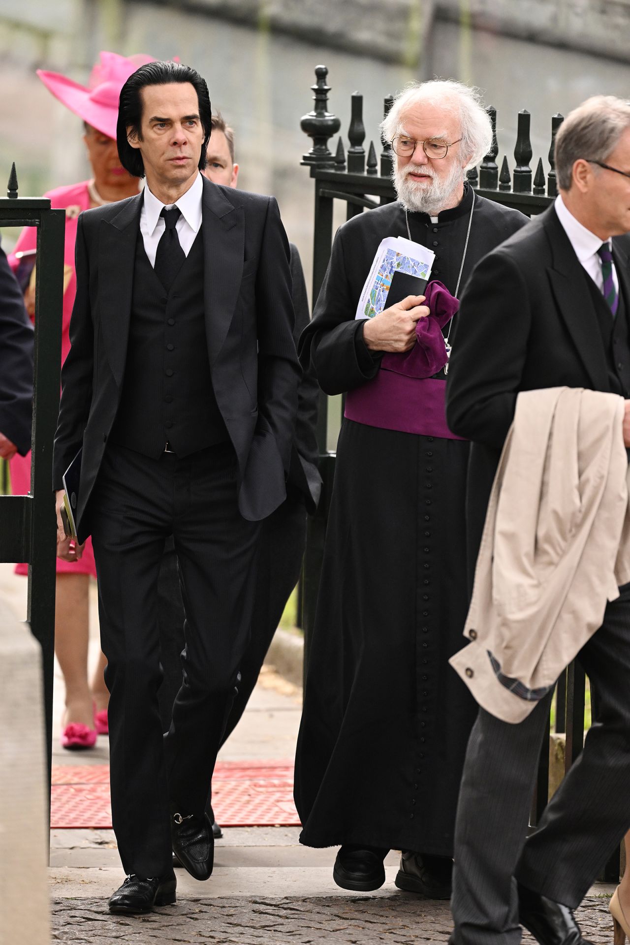
{"type": "Polygon", "coordinates": [[[160,876],[172,869],[171,812],[200,814],[208,796],[247,645],[260,525],[238,511],[226,444],[158,460],[110,446],[90,517],[111,694],[113,829],[125,871],[160,876]],[[171,535],[185,651],[163,735],[158,576],[171,535]]]}

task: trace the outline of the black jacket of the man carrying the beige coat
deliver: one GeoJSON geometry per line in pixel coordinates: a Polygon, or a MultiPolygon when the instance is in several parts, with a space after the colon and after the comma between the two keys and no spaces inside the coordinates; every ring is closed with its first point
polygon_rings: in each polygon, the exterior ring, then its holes
{"type": "MultiPolygon", "coordinates": [[[[629,250],[629,236],[613,239],[626,304],[629,250]]],[[[447,381],[447,420],[453,433],[472,440],[471,564],[519,391],[563,386],[610,390],[588,279],[550,207],[485,256],[466,286],[447,381]]]]}

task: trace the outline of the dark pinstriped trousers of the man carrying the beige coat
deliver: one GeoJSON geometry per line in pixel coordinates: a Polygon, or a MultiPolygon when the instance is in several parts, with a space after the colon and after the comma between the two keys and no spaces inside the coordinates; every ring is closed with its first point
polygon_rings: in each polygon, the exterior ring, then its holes
{"type": "Polygon", "coordinates": [[[578,659],[597,689],[598,720],[526,841],[552,696],[519,725],[479,713],[455,826],[456,945],[518,945],[515,879],[576,908],[630,827],[630,585],[578,659]]]}

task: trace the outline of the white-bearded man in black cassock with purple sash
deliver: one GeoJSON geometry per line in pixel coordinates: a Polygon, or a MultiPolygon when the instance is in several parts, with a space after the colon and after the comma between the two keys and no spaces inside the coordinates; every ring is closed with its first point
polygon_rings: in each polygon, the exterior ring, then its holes
{"type": "MultiPolygon", "coordinates": [[[[417,322],[437,318],[429,305],[435,283],[427,299],[409,296],[373,318],[354,316],[384,237],[434,250],[432,278],[446,287],[437,291],[452,314],[452,297],[473,266],[527,221],[468,185],[468,168],[488,151],[492,131],[467,86],[416,84],[398,96],[383,128],[394,149],[398,200],[354,216],[337,232],[315,317],[300,339],[303,366],[313,366],[327,393],[348,397],[298,737],[296,803],[301,842],[341,848],[337,885],[378,888],[386,852],[398,849],[397,885],[446,899],[476,712],[448,665],[463,643],[468,606],[468,443],[446,424],[448,358],[439,327],[437,367],[419,376],[392,367],[392,359],[399,365],[405,352],[421,350],[417,322]],[[392,378],[404,392],[397,387],[386,399],[383,385],[392,378]]],[[[449,331],[445,324],[444,335],[449,331]]],[[[452,339],[456,346],[456,327],[452,339]]]]}

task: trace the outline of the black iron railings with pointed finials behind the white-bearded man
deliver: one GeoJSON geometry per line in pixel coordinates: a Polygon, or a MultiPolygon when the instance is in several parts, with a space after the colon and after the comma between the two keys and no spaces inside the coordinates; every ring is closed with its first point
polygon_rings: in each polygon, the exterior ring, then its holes
{"type": "MultiPolygon", "coordinates": [[[[328,143],[339,131],[341,122],[334,114],[328,112],[328,94],[331,87],[327,84],[327,77],[327,67],[316,66],[315,85],[311,87],[314,92],[315,108],[301,120],[302,130],[313,141],[310,150],[303,155],[302,164],[311,168],[311,178],[315,181],[314,306],[331,255],[334,201],[345,201],[346,218],[349,219],[363,213],[365,209],[372,209],[396,199],[391,179],[391,146],[382,140],[379,158],[377,158],[373,141],[370,141],[367,152],[364,146],[366,129],[363,122],[363,95],[354,93],[351,96],[348,156],[346,156],[341,136],[337,141],[335,153],[332,154],[328,143]]],[[[391,95],[383,99],[383,116],[389,112],[392,100],[391,95]]],[[[530,164],[533,156],[530,140],[530,112],[522,110],[518,115],[514,167],[510,173],[507,155],[503,156],[501,169],[497,163],[499,154],[496,136],[497,112],[492,107],[486,111],[492,122],[492,146],[479,168],[473,168],[468,172],[469,183],[483,197],[496,200],[503,206],[519,210],[527,216],[541,213],[553,203],[553,198],[557,194],[553,145],[563,116],[555,114],[551,119],[548,154],[550,167],[545,176],[541,157],[538,158],[535,172],[532,171],[530,164]]],[[[315,603],[334,475],[335,455],[327,448],[328,440],[329,398],[321,393],[317,442],[320,454],[319,469],[323,478],[322,498],[315,517],[309,522],[301,588],[301,627],[304,629],[305,664],[308,662],[310,636],[315,619],[315,603]]],[[[565,773],[584,747],[585,698],[584,671],[578,663],[571,663],[558,683],[555,700],[555,731],[566,733],[565,773]]],[[[548,799],[549,741],[546,739],[538,766],[536,798],[530,817],[532,826],[536,825],[548,799]]],[[[620,859],[616,853],[606,867],[604,878],[617,882],[619,872],[620,859]]]]}

